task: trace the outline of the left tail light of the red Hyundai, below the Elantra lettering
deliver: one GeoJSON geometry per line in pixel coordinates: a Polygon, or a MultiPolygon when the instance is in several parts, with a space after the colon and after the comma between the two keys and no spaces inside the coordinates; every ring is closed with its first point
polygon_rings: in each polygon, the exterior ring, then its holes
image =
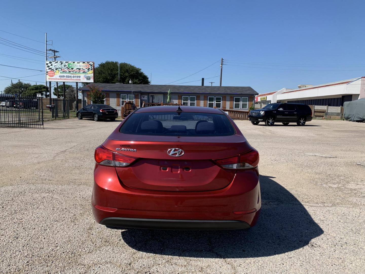
{"type": "Polygon", "coordinates": [[[137,158],[112,152],[104,146],[98,146],[95,149],[95,161],[100,165],[109,167],[126,167],[133,163],[137,158]]]}

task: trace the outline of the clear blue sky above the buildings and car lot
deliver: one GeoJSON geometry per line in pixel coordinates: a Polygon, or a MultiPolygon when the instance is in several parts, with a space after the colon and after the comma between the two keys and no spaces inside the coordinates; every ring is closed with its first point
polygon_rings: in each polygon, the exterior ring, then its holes
{"type": "MultiPolygon", "coordinates": [[[[152,84],[218,76],[222,57],[222,85],[259,93],[365,75],[361,1],[13,0],[1,11],[2,39],[42,51],[44,44],[12,34],[43,42],[47,32],[60,60],[128,62],[152,73],[152,84]]],[[[44,70],[43,61],[0,43],[0,64],[44,70]]],[[[1,76],[41,73],[0,65],[1,76]]],[[[43,75],[24,79],[44,83],[43,75]]],[[[210,81],[219,85],[219,77],[210,81]]],[[[9,84],[0,80],[0,91],[9,84]]]]}

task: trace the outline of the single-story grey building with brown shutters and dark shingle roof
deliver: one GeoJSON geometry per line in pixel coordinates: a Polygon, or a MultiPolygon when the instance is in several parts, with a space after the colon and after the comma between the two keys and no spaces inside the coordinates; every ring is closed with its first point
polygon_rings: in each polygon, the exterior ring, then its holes
{"type": "MultiPolygon", "coordinates": [[[[99,87],[105,95],[105,104],[120,110],[124,102],[133,102],[141,107],[143,102],[167,103],[171,92],[171,102],[183,106],[216,107],[218,109],[248,110],[254,104],[258,93],[251,87],[218,87],[193,85],[139,85],[91,83],[99,87]],[[133,86],[133,90],[132,90],[133,86]]],[[[79,88],[82,92],[82,107],[91,104],[89,85],[79,88]]]]}

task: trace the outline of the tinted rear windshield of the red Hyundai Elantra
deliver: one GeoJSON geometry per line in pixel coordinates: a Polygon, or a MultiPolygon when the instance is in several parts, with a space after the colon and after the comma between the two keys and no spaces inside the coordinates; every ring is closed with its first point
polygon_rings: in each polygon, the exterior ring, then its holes
{"type": "Polygon", "coordinates": [[[226,115],[212,113],[134,113],[121,133],[155,136],[229,136],[235,130],[226,115]]]}

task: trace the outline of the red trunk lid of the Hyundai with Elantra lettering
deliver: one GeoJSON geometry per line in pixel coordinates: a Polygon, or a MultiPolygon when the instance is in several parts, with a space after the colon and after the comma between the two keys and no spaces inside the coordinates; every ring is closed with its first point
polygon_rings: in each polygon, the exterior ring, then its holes
{"type": "Polygon", "coordinates": [[[251,148],[238,135],[209,139],[210,142],[206,137],[114,133],[103,146],[138,158],[127,167],[116,167],[119,179],[126,186],[159,191],[207,191],[226,187],[235,175],[235,170],[225,170],[213,159],[238,155],[251,148]],[[126,137],[129,140],[123,140],[126,137]],[[173,157],[168,154],[169,149],[181,149],[184,154],[173,157]]]}

